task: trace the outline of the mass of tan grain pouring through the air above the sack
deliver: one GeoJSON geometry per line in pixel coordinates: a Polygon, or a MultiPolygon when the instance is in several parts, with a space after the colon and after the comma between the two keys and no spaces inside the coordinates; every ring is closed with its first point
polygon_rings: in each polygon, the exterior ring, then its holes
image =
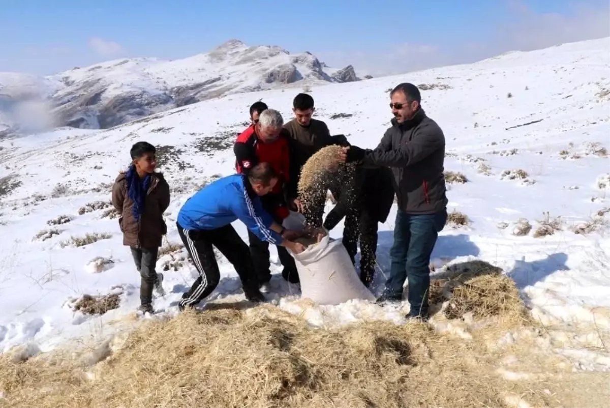
{"type": "Polygon", "coordinates": [[[350,194],[355,167],[339,163],[337,158],[342,149],[337,145],[321,148],[301,169],[298,195],[307,213],[324,212],[327,192],[332,185],[338,186],[342,194],[350,194]]]}

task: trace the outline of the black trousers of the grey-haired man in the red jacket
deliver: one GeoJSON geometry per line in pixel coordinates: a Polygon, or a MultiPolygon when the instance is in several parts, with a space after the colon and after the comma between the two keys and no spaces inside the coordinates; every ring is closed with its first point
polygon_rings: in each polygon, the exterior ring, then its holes
{"type": "MultiPolygon", "coordinates": [[[[268,194],[269,195],[269,194],[268,194]]],[[[269,195],[264,195],[262,197],[262,205],[265,211],[267,211],[271,217],[278,224],[282,224],[282,220],[278,218],[276,215],[276,205],[278,203],[278,198],[272,197],[269,195]]],[[[270,266],[271,262],[269,261],[270,253],[269,253],[269,242],[262,241],[259,237],[248,231],[248,241],[250,247],[250,255],[252,257],[252,261],[254,262],[254,271],[256,273],[256,277],[259,283],[269,282],[271,279],[271,271],[270,266]]],[[[282,269],[282,277],[290,283],[298,283],[299,282],[299,274],[296,272],[296,264],[295,259],[290,255],[287,249],[282,246],[277,246],[278,248],[278,257],[279,261],[282,263],[284,267],[282,269]]]]}

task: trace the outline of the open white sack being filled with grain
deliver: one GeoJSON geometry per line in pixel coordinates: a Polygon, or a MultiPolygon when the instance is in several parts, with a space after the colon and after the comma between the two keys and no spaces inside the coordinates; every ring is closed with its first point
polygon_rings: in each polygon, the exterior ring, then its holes
{"type": "MultiPolygon", "coordinates": [[[[287,230],[303,230],[303,214],[290,211],[283,222],[287,230]]],[[[338,239],[327,234],[301,253],[292,253],[301,282],[301,298],[320,305],[337,305],[350,299],[375,301],[375,296],[360,281],[350,255],[338,239]]]]}

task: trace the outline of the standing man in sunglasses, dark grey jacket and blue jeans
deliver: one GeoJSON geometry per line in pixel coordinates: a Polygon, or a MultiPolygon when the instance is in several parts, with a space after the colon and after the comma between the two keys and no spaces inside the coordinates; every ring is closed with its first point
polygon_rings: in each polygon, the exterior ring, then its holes
{"type": "Polygon", "coordinates": [[[351,146],[340,161],[389,166],[394,176],[398,213],[392,267],[379,302],[400,301],[409,282],[412,318],[428,318],[429,262],[439,232],[447,222],[447,194],[443,175],[445,136],[420,106],[416,86],[403,83],[390,93],[394,118],[375,150],[351,146]]]}

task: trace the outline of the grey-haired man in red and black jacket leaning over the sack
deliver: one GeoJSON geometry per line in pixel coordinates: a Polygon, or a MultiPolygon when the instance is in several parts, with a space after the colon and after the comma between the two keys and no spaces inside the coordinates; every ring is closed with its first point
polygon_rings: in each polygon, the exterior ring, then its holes
{"type": "MultiPolygon", "coordinates": [[[[233,147],[238,173],[247,174],[257,163],[268,162],[278,174],[278,183],[273,190],[261,197],[263,208],[278,224],[289,215],[285,189],[290,181],[290,136],[282,128],[283,125],[284,118],[278,111],[265,109],[260,113],[259,120],[237,137],[233,147]]],[[[269,244],[249,231],[248,241],[259,285],[267,286],[271,279],[269,244]]],[[[291,283],[299,282],[295,260],[290,253],[278,246],[278,255],[284,266],[282,277],[291,283]]]]}

